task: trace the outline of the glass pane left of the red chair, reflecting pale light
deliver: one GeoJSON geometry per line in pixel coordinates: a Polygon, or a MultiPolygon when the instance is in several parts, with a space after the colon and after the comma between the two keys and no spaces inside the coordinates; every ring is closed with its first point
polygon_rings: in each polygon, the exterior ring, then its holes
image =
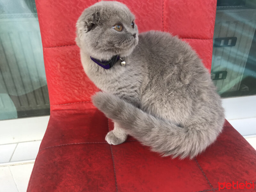
{"type": "Polygon", "coordinates": [[[49,115],[35,1],[0,5],[0,120],[49,115]]]}

